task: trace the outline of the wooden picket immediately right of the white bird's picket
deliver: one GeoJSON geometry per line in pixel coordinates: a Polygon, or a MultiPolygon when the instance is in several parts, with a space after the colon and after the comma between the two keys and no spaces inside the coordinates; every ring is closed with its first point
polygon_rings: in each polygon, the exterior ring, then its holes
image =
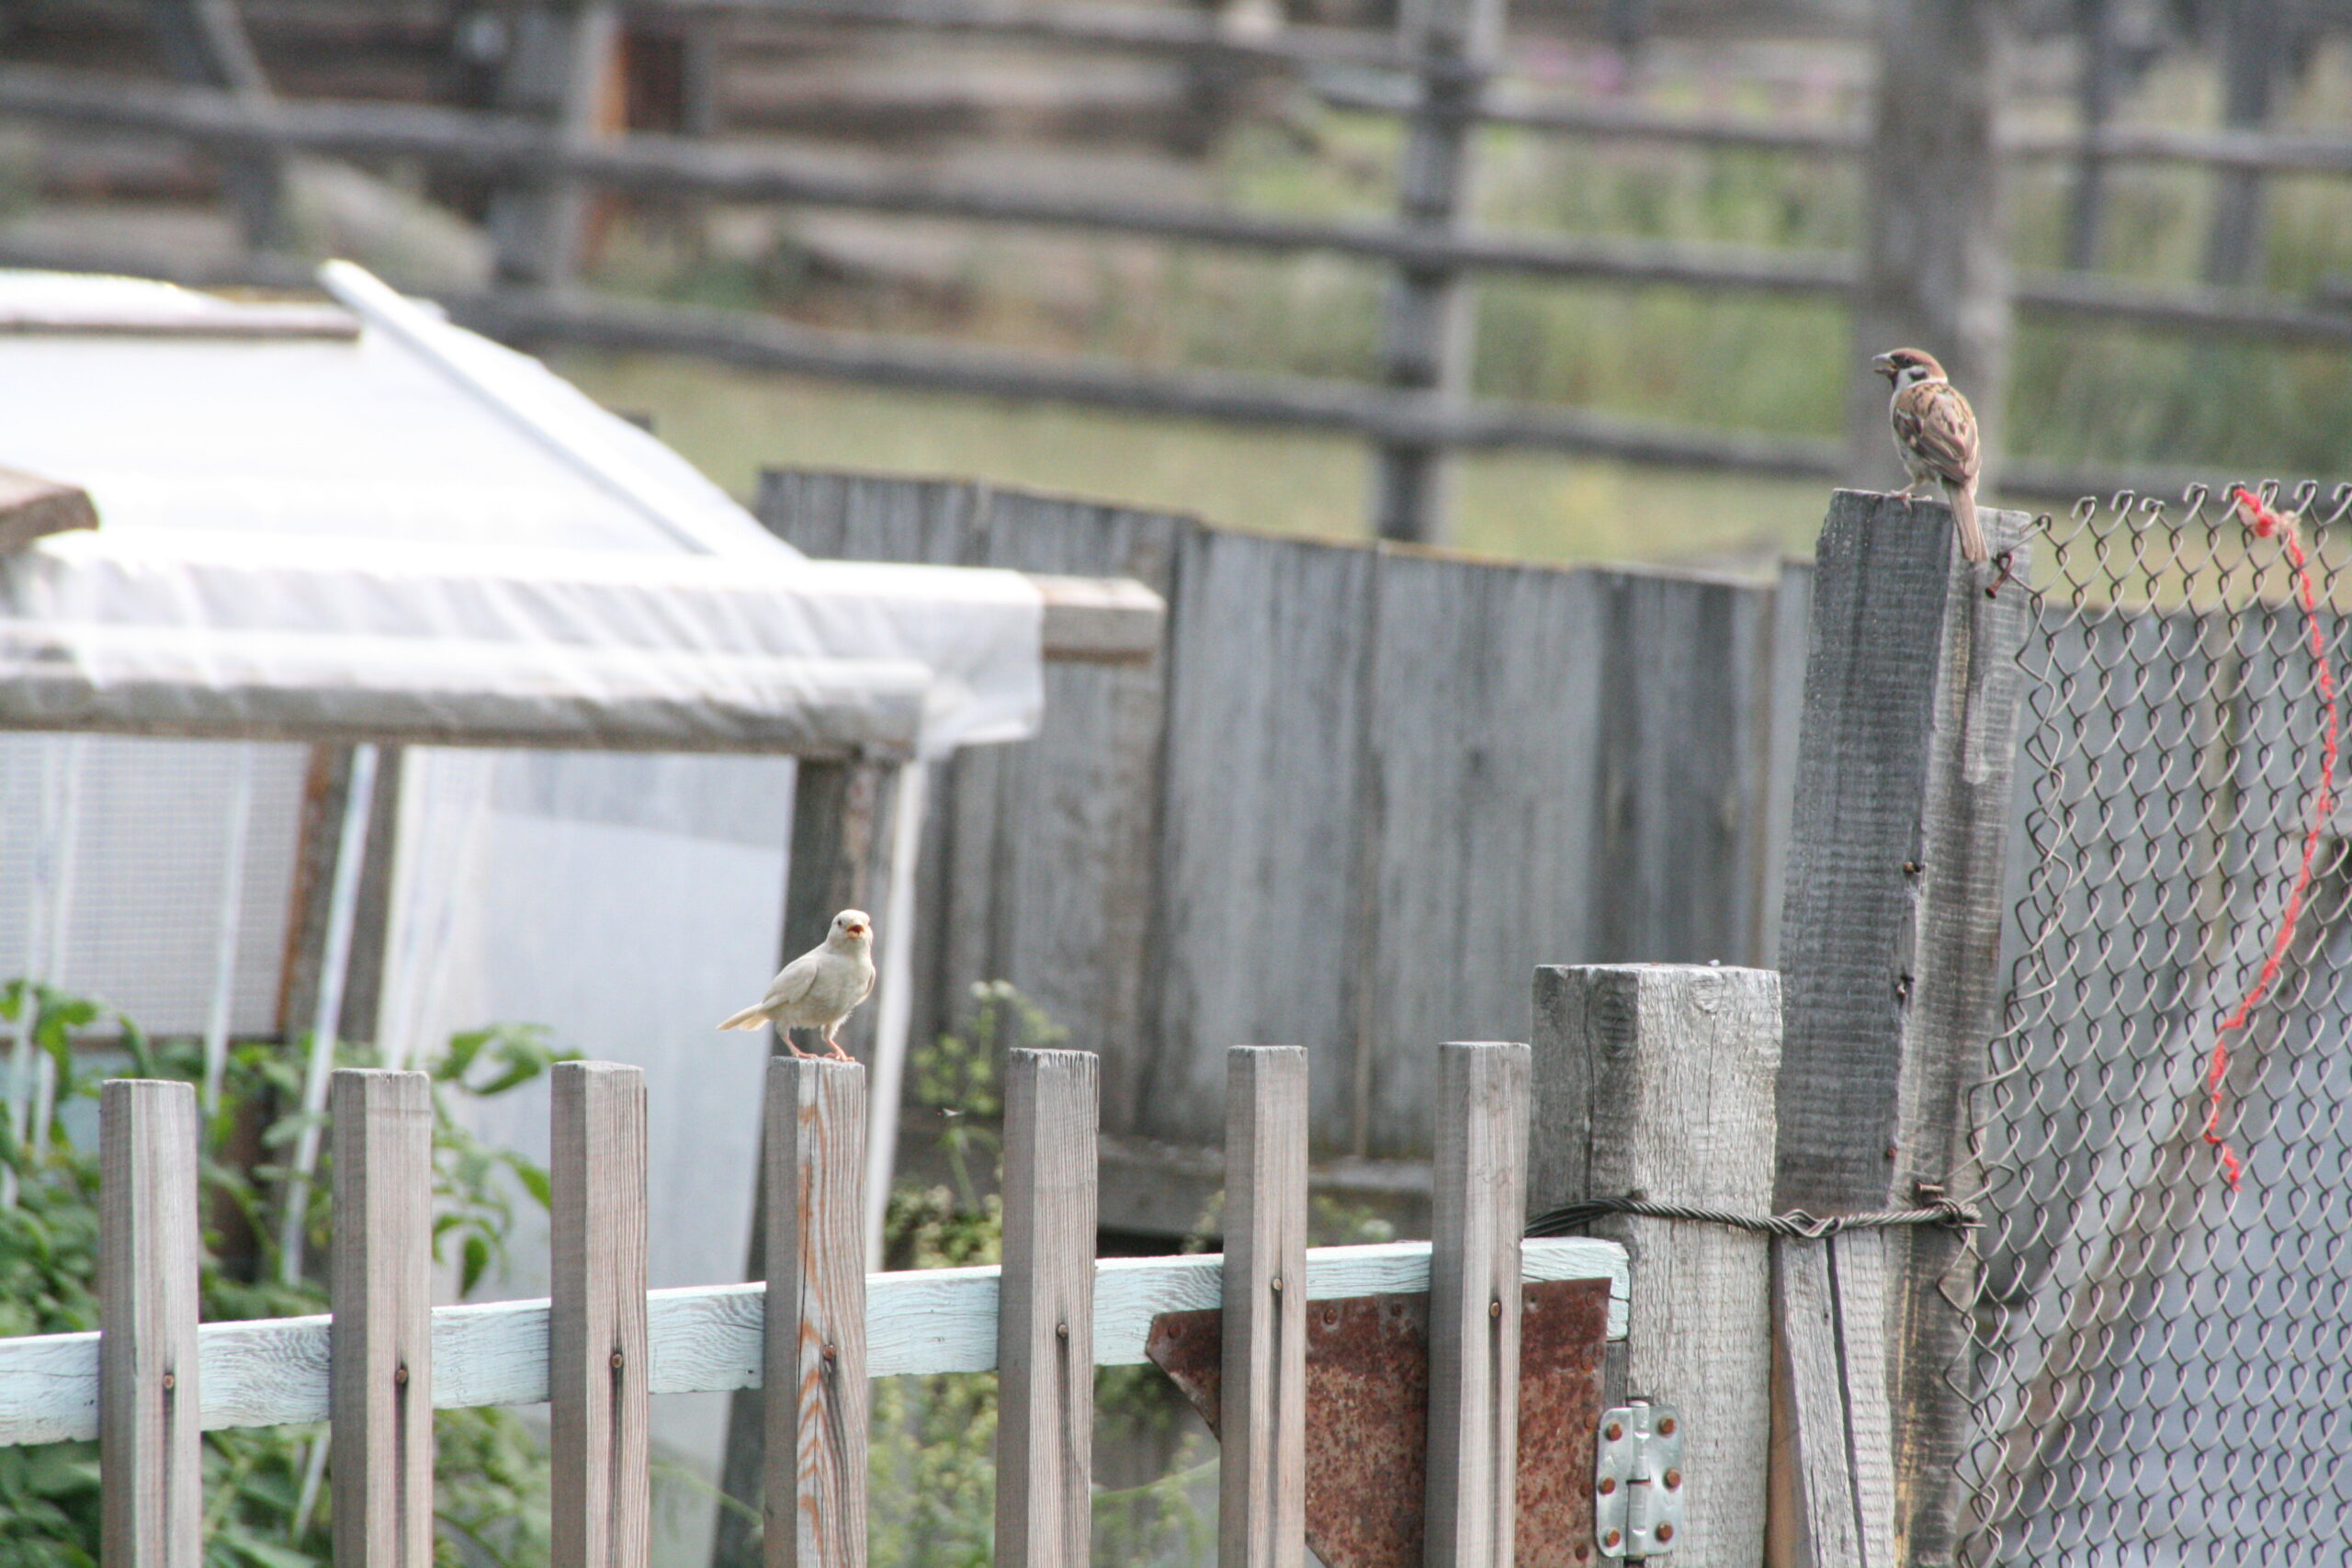
{"type": "Polygon", "coordinates": [[[1094,1490],[1091,1051],[1004,1063],[997,1568],[1087,1568],[1094,1490]]]}

